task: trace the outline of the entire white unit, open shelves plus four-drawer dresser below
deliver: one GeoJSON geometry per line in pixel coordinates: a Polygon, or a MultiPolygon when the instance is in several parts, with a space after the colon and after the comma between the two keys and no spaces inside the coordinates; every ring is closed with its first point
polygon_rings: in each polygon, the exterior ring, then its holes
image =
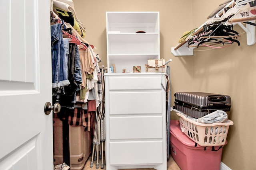
{"type": "Polygon", "coordinates": [[[104,74],[106,170],[166,170],[165,73],[145,72],[148,59],[160,59],[159,12],[106,12],[106,22],[108,68],[116,66],[104,74]]]}

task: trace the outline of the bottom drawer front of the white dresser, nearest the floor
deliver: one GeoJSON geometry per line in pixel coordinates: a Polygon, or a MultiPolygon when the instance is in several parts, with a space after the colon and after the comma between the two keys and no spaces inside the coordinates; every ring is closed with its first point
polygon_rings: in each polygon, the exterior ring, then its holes
{"type": "Polygon", "coordinates": [[[162,163],[163,141],[110,142],[111,165],[162,163]]]}

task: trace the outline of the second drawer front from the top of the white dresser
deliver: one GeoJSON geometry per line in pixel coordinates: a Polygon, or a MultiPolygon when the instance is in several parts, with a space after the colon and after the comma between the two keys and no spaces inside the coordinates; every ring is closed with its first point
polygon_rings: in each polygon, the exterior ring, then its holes
{"type": "Polygon", "coordinates": [[[110,92],[110,115],[162,114],[162,92],[110,92]]]}

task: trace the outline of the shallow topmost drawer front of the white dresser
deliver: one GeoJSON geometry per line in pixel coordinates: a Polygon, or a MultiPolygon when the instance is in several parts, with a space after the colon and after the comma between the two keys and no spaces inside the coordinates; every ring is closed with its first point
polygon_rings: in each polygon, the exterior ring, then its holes
{"type": "Polygon", "coordinates": [[[110,77],[109,90],[161,89],[162,86],[160,83],[161,76],[110,77]]]}

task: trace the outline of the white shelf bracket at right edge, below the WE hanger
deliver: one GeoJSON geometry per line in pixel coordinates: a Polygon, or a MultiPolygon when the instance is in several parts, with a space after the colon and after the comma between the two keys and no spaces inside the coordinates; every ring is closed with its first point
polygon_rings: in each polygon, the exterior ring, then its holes
{"type": "MultiPolygon", "coordinates": [[[[250,21],[255,23],[255,21],[250,21]]],[[[242,23],[237,23],[246,32],[247,45],[254,45],[255,40],[255,26],[246,23],[246,27],[242,23]]]]}

